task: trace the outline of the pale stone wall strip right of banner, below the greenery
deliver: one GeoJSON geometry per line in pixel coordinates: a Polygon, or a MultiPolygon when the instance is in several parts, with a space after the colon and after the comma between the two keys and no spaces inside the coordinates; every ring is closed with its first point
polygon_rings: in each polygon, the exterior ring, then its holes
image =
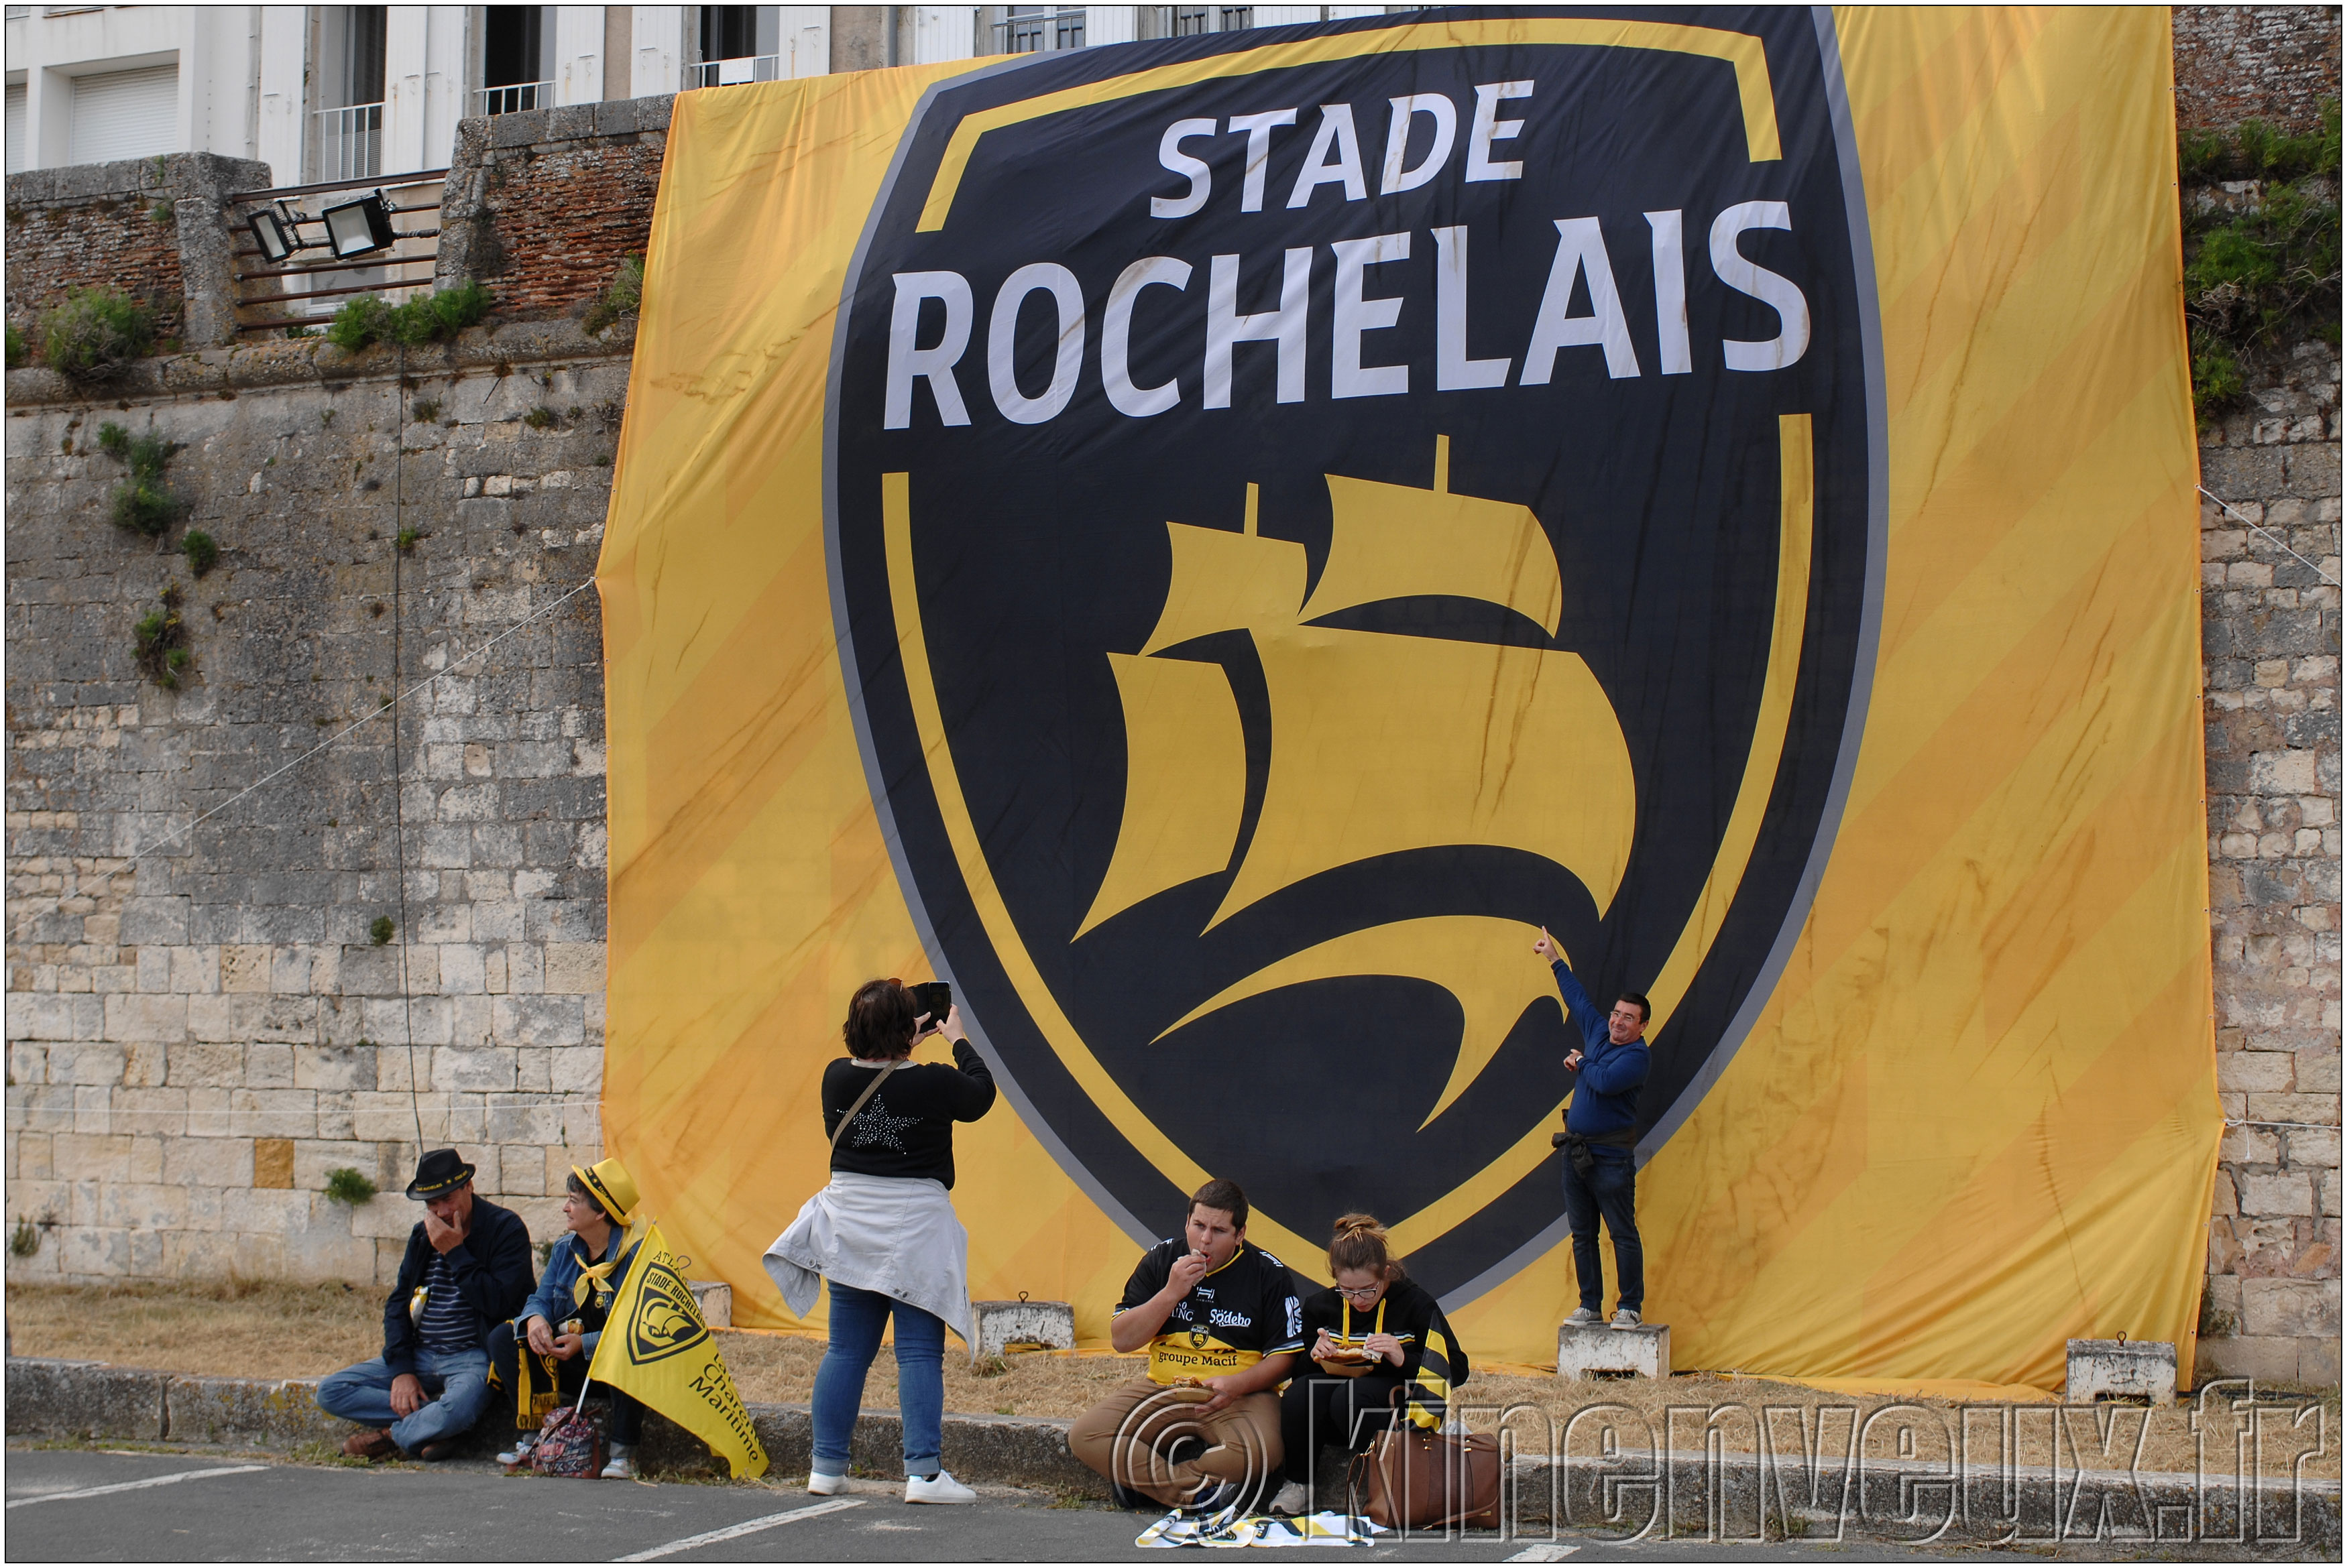
{"type": "Polygon", "coordinates": [[[2335,347],[2298,347],[2253,408],[2201,434],[2201,486],[2234,507],[2201,505],[2201,646],[2218,1089],[2241,1122],[2209,1221],[2201,1368],[2338,1383],[2335,347]]]}

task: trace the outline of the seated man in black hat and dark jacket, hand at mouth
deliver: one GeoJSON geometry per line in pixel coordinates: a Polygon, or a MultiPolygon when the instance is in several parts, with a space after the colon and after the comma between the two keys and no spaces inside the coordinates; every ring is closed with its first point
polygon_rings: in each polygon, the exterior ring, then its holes
{"type": "Polygon", "coordinates": [[[530,1293],[530,1228],[474,1197],[472,1171],[453,1148],[415,1164],[408,1197],[425,1218],[383,1303],[383,1354],[317,1385],[322,1411],[366,1427],[347,1455],[439,1460],[488,1408],[488,1331],[530,1293]]]}

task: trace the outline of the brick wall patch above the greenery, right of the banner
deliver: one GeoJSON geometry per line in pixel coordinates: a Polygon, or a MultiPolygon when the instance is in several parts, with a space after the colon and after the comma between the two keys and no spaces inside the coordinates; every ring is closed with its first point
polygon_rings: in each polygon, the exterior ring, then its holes
{"type": "Polygon", "coordinates": [[[2328,5],[2178,5],[2176,122],[2265,120],[2312,131],[2340,96],[2340,14],[2328,5]]]}

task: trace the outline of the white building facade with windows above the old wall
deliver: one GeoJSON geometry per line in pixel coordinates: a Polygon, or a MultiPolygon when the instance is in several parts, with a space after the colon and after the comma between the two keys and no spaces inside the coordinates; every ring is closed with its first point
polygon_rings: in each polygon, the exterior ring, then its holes
{"type": "Polygon", "coordinates": [[[455,124],[692,87],[1387,5],[12,5],[7,169],[221,153],[275,185],[444,169],[455,124]]]}

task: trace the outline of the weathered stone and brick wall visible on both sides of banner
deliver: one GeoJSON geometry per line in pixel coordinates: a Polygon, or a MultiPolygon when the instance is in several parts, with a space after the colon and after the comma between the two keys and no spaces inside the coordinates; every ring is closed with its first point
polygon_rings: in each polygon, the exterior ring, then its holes
{"type": "MultiPolygon", "coordinates": [[[[2185,124],[2307,129],[2335,94],[2335,12],[2178,12],[2185,124]]],[[[509,324],[453,350],[406,366],[317,343],[185,354],[106,399],[9,378],[7,1216],[54,1221],[12,1277],[387,1277],[411,1209],[347,1211],[319,1188],[350,1164],[397,1190],[413,1162],[401,958],[427,1138],[458,1141],[540,1235],[563,1167],[598,1153],[591,592],[401,711],[411,871],[392,944],[366,932],[397,918],[385,718],[167,854],[124,857],[373,711],[394,636],[413,683],[591,575],[627,326],[598,340],[512,317],[575,317],[643,251],[667,122],[648,99],[465,127],[439,282],[486,277],[509,324]],[[108,418],[188,444],[171,484],[225,549],[202,582],[106,521],[108,418]],[[401,526],[422,535],[411,556],[401,526]],[[129,646],[174,580],[195,650],[181,692],[141,681],[129,646]]],[[[12,319],[75,282],[70,246],[16,265],[19,223],[68,235],[73,204],[110,200],[146,242],[157,225],[122,192],[148,176],[9,178],[12,319]]],[[[202,277],[225,300],[209,244],[181,239],[190,322],[202,277]]],[[[2338,350],[2302,345],[2253,401],[2201,434],[2204,484],[2237,509],[2201,512],[2201,592],[2218,1082],[2241,1124],[2213,1195],[2199,1371],[2338,1380],[2338,350]]]]}

